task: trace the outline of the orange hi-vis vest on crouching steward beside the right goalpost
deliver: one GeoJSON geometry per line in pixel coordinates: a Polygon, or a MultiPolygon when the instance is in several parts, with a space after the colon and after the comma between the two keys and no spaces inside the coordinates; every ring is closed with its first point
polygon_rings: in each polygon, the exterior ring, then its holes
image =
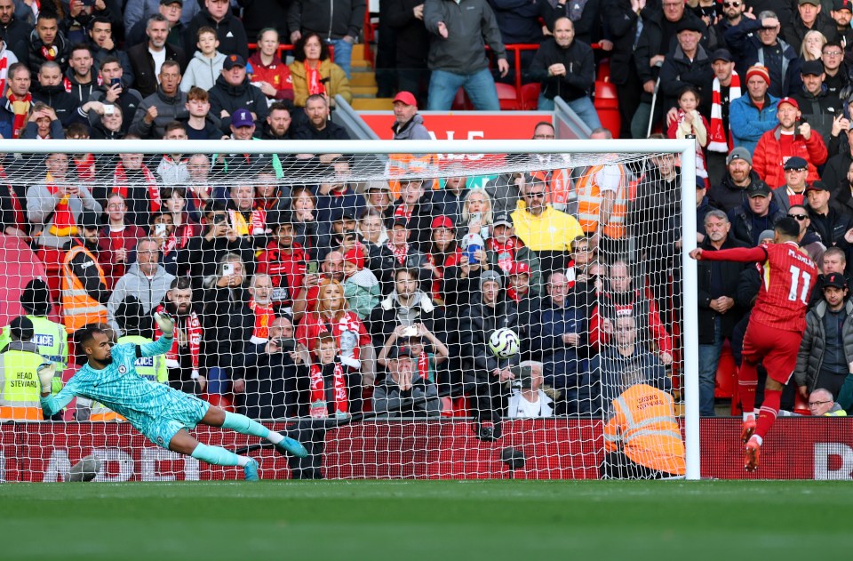
{"type": "Polygon", "coordinates": [[[684,443],[675,420],[673,397],[648,384],[636,384],[613,400],[615,414],[604,426],[604,448],[618,450],[634,463],[684,475],[684,443]]]}

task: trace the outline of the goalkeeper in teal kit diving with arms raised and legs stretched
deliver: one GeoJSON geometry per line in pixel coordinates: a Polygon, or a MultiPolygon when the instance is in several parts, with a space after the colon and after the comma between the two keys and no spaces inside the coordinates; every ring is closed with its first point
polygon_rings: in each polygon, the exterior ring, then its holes
{"type": "Polygon", "coordinates": [[[114,347],[107,333],[100,328],[86,326],[81,329],[78,332],[79,345],[86,354],[87,364],[55,397],[51,396],[55,366],[44,364],[38,367],[41,405],[45,415],[60,411],[73,397],[88,397],[124,416],[134,429],[156,445],[218,466],[240,466],[247,481],[259,479],[257,461],[219,446],[203,445],[190,436],[187,429],[195,429],[199,423],[234,429],[244,435],[266,438],[280,453],[307,456],[305,448],[290,437],[167,385],[148,381],[136,373],[134,363],[137,358],[154,357],[171,349],[174,320],[166,314],[155,314],[155,320],[163,336],[144,345],[114,347]]]}

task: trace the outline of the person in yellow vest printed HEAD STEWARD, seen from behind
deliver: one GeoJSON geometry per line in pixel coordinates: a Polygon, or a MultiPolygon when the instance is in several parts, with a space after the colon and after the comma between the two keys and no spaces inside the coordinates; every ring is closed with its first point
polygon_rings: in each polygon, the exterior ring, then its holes
{"type": "Polygon", "coordinates": [[[41,384],[36,371],[45,359],[38,354],[33,322],[25,316],[12,320],[10,341],[0,354],[0,421],[43,421],[41,384]]]}

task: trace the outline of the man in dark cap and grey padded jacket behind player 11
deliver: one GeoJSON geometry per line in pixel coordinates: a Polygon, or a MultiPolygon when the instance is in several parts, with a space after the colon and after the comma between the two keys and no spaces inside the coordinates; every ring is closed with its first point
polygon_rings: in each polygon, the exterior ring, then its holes
{"type": "Polygon", "coordinates": [[[853,362],[853,302],[847,300],[847,280],[841,273],[824,276],[823,300],[809,309],[793,379],[800,395],[812,399],[824,389],[831,400],[839,397],[853,362]]]}

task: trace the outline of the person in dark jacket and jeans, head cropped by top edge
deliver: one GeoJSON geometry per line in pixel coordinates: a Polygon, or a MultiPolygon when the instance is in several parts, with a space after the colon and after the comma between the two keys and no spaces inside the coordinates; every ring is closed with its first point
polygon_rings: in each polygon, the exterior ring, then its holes
{"type": "Polygon", "coordinates": [[[361,35],[365,8],[364,0],[343,0],[334,7],[323,0],[296,0],[287,13],[291,43],[299,44],[309,34],[318,38],[326,34],[325,40],[335,49],[335,64],[349,78],[353,44],[361,35]]]}

